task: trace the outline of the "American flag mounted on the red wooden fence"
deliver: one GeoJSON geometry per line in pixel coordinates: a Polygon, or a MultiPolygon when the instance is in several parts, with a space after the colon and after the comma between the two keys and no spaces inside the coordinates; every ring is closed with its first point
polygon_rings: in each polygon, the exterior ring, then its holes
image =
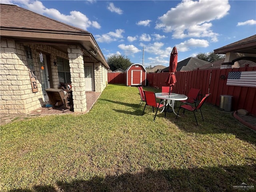
{"type": "Polygon", "coordinates": [[[227,85],[256,87],[256,71],[229,72],[227,85]]]}

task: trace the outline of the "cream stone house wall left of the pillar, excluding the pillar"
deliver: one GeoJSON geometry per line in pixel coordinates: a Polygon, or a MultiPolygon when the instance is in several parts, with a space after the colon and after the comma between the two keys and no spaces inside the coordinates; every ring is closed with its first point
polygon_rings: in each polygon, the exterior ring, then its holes
{"type": "Polygon", "coordinates": [[[54,88],[58,88],[59,80],[58,69],[53,65],[53,61],[56,56],[68,58],[67,54],[50,46],[17,44],[12,39],[4,38],[1,38],[0,48],[0,114],[26,114],[43,106],[44,95],[40,84],[37,50],[50,54],[54,88]],[[32,93],[24,46],[31,48],[38,85],[36,93],[32,93]]]}

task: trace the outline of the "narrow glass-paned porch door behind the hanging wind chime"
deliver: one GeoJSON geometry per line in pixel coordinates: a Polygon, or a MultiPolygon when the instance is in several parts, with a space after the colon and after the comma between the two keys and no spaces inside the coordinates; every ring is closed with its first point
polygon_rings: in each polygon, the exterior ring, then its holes
{"type": "Polygon", "coordinates": [[[43,54],[43,62],[40,61],[40,58],[38,57],[38,63],[39,63],[39,72],[41,77],[41,84],[42,84],[42,91],[44,94],[44,102],[49,102],[48,96],[46,94],[46,89],[50,88],[50,79],[48,74],[48,68],[47,68],[47,62],[46,62],[46,56],[43,54]]]}

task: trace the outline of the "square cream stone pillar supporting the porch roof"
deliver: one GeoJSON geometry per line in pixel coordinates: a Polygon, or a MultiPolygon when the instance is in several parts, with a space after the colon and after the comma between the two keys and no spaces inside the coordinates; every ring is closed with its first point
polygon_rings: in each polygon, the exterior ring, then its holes
{"type": "Polygon", "coordinates": [[[74,112],[86,111],[83,52],[80,46],[68,46],[74,112]]]}

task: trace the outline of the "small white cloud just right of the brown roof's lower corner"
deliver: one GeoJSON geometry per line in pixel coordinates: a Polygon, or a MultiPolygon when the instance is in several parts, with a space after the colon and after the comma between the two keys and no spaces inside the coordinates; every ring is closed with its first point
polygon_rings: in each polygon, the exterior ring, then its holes
{"type": "Polygon", "coordinates": [[[120,40],[121,38],[123,38],[122,33],[124,32],[123,29],[116,29],[116,32],[108,32],[107,34],[103,34],[103,35],[95,35],[96,41],[98,42],[106,42],[106,43],[110,43],[113,41],[117,41],[120,40]]]}

